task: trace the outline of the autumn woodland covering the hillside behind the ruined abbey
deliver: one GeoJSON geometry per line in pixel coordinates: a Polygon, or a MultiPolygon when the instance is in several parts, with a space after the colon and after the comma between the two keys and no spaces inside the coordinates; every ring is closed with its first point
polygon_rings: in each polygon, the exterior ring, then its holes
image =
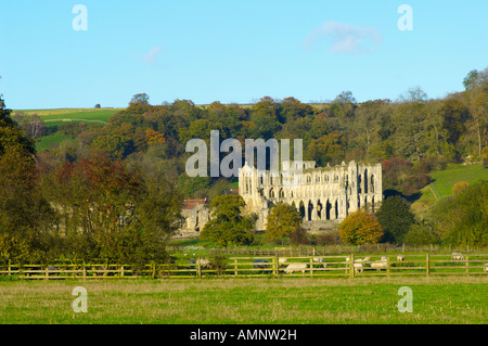
{"type": "MultiPolygon", "coordinates": [[[[488,162],[488,69],[473,71],[465,90],[431,100],[413,88],[399,100],[358,103],[345,91],[326,104],[305,104],[294,98],[265,97],[252,105],[195,105],[189,100],[151,105],[145,93],[110,118],[110,125],[69,124],[75,142],[40,153],[43,161],[75,162],[90,150],[165,171],[187,197],[213,197],[228,185],[219,179],[188,179],[185,143],[220,139],[303,139],[304,158],[319,166],[342,161],[383,162],[385,189],[412,194],[428,182],[428,172],[448,163],[488,162]]],[[[31,129],[30,129],[31,131],[31,129]]]]}

